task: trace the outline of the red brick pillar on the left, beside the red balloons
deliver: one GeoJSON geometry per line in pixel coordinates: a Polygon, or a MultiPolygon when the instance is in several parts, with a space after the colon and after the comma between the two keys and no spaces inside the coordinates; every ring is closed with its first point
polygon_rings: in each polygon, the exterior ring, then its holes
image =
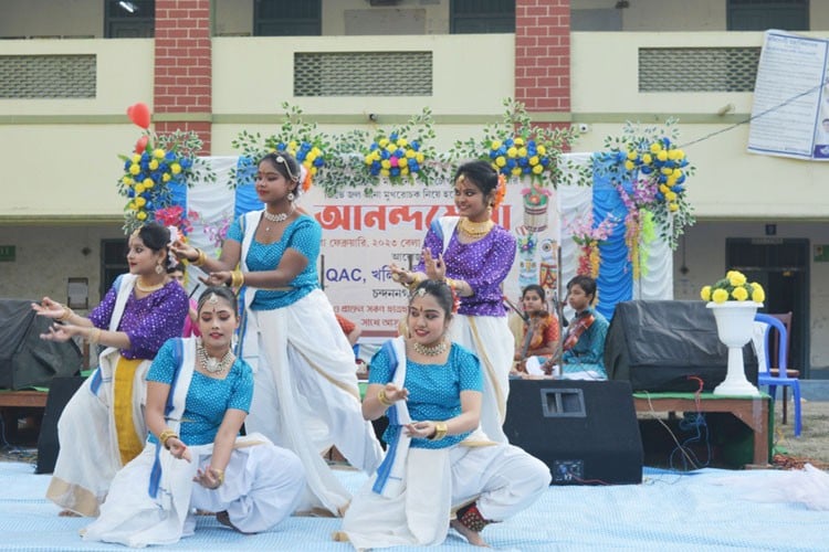
{"type": "MultiPolygon", "coordinates": [[[[156,115],[212,113],[210,0],[156,0],[156,115]]],[[[195,130],[210,155],[211,123],[157,121],[156,131],[195,130]]]]}

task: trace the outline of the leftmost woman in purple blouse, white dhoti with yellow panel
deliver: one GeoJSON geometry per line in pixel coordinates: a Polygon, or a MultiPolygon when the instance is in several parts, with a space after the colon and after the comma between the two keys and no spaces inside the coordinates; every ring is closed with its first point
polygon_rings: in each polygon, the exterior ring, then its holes
{"type": "Polygon", "coordinates": [[[87,318],[49,297],[32,308],[56,323],[42,339],[85,339],[104,347],[98,369],[63,408],[57,422],[60,453],[46,498],[62,516],[97,516],[109,481],[144,447],[145,375],[158,349],[180,336],[187,293],[167,275],[170,232],[158,223],[128,241],[129,274],[115,280],[87,318]]]}

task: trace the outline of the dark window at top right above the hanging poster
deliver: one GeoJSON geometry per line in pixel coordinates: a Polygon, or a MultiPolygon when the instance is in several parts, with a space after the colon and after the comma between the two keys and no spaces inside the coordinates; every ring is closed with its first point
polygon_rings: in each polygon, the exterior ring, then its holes
{"type": "Polygon", "coordinates": [[[809,0],[727,0],[728,31],[809,30],[809,0]]]}

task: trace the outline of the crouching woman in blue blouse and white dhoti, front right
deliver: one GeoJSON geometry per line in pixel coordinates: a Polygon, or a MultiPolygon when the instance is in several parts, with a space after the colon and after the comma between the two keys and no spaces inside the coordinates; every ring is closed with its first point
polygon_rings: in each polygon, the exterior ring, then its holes
{"type": "Polygon", "coordinates": [[[419,284],[409,301],[410,336],[387,341],[371,360],[363,414],[388,415],[389,446],[335,534],[356,549],[439,545],[450,526],[485,545],[484,527],[529,507],[549,485],[541,460],[476,429],[481,368],[449,340],[453,306],[444,283],[419,284]]]}

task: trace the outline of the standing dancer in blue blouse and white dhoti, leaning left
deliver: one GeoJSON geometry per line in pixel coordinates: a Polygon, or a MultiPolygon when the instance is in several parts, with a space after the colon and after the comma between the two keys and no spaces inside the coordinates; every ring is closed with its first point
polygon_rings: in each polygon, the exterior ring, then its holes
{"type": "Polygon", "coordinates": [[[382,449],[360,413],[354,350],[319,289],[322,229],[294,206],[300,180],[293,157],[269,153],[256,173],[265,209],[231,225],[221,257],[178,242],[174,251],[208,272],[208,285],[242,287],[238,354],[253,367],[255,381],[245,427],[300,456],[313,495],[303,508],[339,514],[350,495],[322,453],[334,445],[353,466],[371,473],[382,449]]]}

